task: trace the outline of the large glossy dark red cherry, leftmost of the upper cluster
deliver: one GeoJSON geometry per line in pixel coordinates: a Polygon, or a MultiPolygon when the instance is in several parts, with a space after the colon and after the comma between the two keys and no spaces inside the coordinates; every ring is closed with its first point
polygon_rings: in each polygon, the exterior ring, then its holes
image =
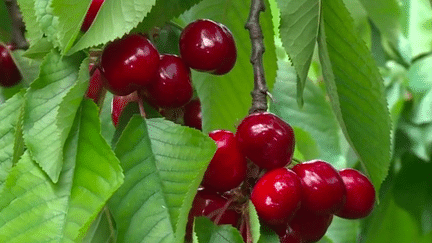
{"type": "Polygon", "coordinates": [[[155,81],[159,53],[146,37],[127,35],[105,47],[101,66],[106,88],[124,96],[155,81]]]}

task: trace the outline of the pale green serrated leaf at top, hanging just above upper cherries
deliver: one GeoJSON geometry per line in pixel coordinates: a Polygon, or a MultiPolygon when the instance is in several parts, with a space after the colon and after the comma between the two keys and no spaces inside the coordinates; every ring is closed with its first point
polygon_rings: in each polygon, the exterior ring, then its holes
{"type": "Polygon", "coordinates": [[[156,0],[105,0],[88,31],[69,50],[79,50],[105,44],[130,32],[143,21],[156,0]]]}

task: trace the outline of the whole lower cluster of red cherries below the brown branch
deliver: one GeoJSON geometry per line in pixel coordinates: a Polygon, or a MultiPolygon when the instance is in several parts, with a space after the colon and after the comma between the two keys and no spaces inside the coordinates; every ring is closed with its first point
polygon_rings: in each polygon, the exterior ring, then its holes
{"type": "Polygon", "coordinates": [[[320,240],[333,215],[358,219],[373,209],[375,190],[361,172],[337,171],[321,160],[291,165],[294,132],[274,114],[251,114],[235,134],[217,130],[209,136],[218,148],[190,218],[206,216],[217,224],[231,224],[247,238],[241,214],[250,198],[260,220],[281,242],[304,243],[320,240]]]}

